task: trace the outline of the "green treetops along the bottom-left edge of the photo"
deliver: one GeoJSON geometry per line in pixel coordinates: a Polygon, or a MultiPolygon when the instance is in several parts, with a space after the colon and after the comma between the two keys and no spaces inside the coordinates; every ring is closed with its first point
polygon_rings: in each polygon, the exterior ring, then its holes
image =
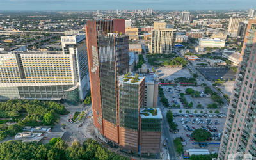
{"type": "MultiPolygon", "coordinates": [[[[56,141],[55,141],[56,140],[56,141]]],[[[88,139],[83,144],[74,141],[70,147],[63,140],[42,145],[36,142],[6,141],[0,144],[0,159],[122,159],[102,147],[97,141],[88,139]]],[[[51,142],[51,141],[50,141],[51,142]]]]}

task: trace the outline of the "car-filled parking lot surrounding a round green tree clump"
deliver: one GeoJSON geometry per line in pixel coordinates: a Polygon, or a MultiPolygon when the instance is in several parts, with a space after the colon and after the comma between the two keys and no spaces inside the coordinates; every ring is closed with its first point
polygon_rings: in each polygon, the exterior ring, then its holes
{"type": "Polygon", "coordinates": [[[207,129],[211,132],[211,138],[206,143],[220,143],[221,136],[223,132],[223,127],[225,124],[224,114],[173,114],[175,123],[178,125],[179,132],[175,133],[173,137],[182,137],[186,145],[184,145],[184,150],[191,148],[194,149],[208,149],[210,152],[218,152],[220,144],[207,144],[198,145],[193,144],[193,138],[191,138],[191,133],[194,129],[207,129]],[[208,122],[208,123],[207,123],[208,122]]]}

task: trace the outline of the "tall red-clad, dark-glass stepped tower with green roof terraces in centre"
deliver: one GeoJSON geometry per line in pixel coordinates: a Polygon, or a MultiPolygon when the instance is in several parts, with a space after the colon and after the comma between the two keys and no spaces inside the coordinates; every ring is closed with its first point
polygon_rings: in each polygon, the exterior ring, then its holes
{"type": "Polygon", "coordinates": [[[129,36],[120,34],[124,24],[125,20],[114,19],[88,21],[86,25],[93,123],[104,141],[140,154],[157,153],[161,112],[151,109],[152,115],[145,113],[145,77],[127,76],[129,36]],[[141,114],[149,120],[141,123],[141,114]],[[150,125],[155,119],[159,120],[156,125],[150,125]]]}

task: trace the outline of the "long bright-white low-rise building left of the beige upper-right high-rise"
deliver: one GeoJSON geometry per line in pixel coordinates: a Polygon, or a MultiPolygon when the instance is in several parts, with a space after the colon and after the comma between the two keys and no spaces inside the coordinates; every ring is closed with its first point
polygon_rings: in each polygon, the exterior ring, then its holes
{"type": "Polygon", "coordinates": [[[223,48],[225,47],[225,40],[221,40],[220,38],[200,38],[199,39],[200,47],[217,47],[223,48]]]}

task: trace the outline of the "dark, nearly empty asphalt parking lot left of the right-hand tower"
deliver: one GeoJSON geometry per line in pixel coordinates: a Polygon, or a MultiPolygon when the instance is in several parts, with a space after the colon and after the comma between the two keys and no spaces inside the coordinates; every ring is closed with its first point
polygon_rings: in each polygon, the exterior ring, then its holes
{"type": "Polygon", "coordinates": [[[236,78],[236,73],[228,68],[200,68],[200,71],[210,81],[236,78]]]}

